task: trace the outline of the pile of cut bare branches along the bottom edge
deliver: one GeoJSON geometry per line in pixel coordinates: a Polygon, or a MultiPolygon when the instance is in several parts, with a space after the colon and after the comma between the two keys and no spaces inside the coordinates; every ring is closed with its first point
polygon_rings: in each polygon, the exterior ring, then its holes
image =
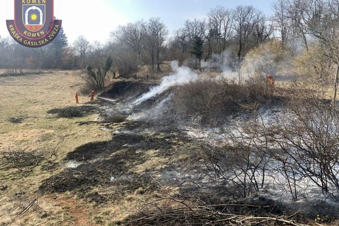
{"type": "Polygon", "coordinates": [[[291,220],[295,215],[258,217],[233,214],[228,207],[272,208],[272,206],[254,206],[246,204],[198,205],[183,199],[163,198],[144,205],[139,212],[122,223],[123,226],[222,226],[222,225],[267,225],[282,224],[301,226],[291,220]]]}

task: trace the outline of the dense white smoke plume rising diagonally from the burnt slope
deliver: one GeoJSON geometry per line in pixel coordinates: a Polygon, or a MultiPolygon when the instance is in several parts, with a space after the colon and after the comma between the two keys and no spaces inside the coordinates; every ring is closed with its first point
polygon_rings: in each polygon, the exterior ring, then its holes
{"type": "Polygon", "coordinates": [[[172,61],[171,67],[174,74],[163,77],[160,85],[151,88],[149,92],[143,94],[141,97],[136,99],[136,101],[134,101],[133,104],[134,105],[141,104],[142,102],[148,100],[149,98],[152,98],[156,95],[163,93],[171,86],[185,84],[190,81],[195,81],[199,77],[197,73],[193,72],[188,67],[179,67],[177,61],[172,61]]]}

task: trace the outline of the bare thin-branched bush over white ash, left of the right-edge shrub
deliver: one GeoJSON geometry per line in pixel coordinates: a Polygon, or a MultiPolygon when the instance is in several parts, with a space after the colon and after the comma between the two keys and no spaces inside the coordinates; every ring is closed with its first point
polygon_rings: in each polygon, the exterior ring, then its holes
{"type": "Polygon", "coordinates": [[[221,127],[218,138],[211,138],[215,139],[215,146],[202,143],[196,150],[202,164],[197,165],[197,169],[202,169],[198,172],[212,187],[225,185],[239,199],[264,187],[266,174],[274,170],[268,169],[272,150],[266,131],[259,125],[260,122],[246,118],[221,127]]]}

